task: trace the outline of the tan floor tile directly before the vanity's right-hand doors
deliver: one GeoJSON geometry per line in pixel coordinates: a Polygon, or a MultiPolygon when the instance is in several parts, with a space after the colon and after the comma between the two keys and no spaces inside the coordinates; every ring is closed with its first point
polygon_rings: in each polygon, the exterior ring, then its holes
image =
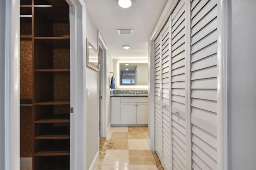
{"type": "Polygon", "coordinates": [[[128,139],[147,139],[148,127],[128,127],[128,139]]]}

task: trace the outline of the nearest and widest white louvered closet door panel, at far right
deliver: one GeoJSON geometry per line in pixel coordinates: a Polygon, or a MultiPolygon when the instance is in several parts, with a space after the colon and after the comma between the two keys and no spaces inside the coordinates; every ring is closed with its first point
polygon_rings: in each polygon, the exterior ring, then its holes
{"type": "Polygon", "coordinates": [[[217,1],[191,3],[192,169],[217,169],[217,1]]]}

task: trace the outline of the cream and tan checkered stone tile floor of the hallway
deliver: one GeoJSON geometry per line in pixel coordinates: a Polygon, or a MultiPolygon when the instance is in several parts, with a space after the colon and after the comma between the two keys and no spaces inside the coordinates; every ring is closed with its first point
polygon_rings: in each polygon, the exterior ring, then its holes
{"type": "Polygon", "coordinates": [[[100,138],[96,170],[163,170],[147,142],[148,127],[110,127],[100,138]]]}

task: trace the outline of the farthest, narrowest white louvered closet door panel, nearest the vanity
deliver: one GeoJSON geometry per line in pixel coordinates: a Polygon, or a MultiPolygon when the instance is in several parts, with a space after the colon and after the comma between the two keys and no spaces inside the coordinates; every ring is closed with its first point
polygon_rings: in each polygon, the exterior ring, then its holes
{"type": "Polygon", "coordinates": [[[161,97],[161,51],[162,41],[161,35],[154,42],[154,115],[155,115],[155,150],[159,159],[162,160],[162,97],[161,97]]]}

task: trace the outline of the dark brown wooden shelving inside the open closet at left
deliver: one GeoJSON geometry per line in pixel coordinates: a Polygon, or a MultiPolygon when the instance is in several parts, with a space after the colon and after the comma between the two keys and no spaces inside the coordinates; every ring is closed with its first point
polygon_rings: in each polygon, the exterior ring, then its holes
{"type": "MultiPolygon", "coordinates": [[[[31,43],[33,170],[66,170],[70,165],[70,34],[65,0],[21,0],[21,39],[31,43]]],[[[28,49],[27,49],[28,50],[28,49]]],[[[25,74],[24,74],[25,75],[25,74]]],[[[24,76],[26,78],[26,75],[24,76]]]]}

